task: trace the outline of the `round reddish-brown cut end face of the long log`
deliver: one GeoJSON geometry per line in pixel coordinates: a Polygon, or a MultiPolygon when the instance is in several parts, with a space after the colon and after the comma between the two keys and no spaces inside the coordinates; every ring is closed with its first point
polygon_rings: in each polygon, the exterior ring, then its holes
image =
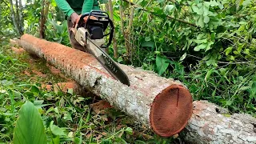
{"type": "Polygon", "coordinates": [[[162,137],[178,134],[189,121],[192,109],[190,92],[183,86],[169,86],[154,98],[150,125],[162,137]]]}

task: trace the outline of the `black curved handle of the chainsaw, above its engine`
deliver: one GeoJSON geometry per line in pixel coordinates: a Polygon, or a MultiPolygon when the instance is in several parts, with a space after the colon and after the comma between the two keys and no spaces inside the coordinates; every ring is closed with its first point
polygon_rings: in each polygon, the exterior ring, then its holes
{"type": "Polygon", "coordinates": [[[112,39],[113,39],[113,35],[114,35],[114,24],[111,21],[109,14],[106,13],[106,11],[102,11],[102,10],[91,10],[90,13],[86,13],[86,14],[82,14],[79,21],[78,21],[78,27],[82,27],[84,24],[84,20],[83,18],[85,18],[86,16],[88,16],[87,20],[86,20],[86,29],[87,29],[87,23],[92,21],[98,21],[98,22],[102,22],[102,21],[108,21],[110,23],[110,33],[109,34],[104,34],[103,37],[106,37],[107,35],[110,35],[110,39],[109,42],[106,45],[101,46],[102,48],[107,48],[111,45],[112,39]],[[95,19],[90,19],[90,16],[94,16],[96,18],[98,18],[98,20],[95,19]],[[100,18],[106,18],[106,20],[101,20],[100,18]]]}

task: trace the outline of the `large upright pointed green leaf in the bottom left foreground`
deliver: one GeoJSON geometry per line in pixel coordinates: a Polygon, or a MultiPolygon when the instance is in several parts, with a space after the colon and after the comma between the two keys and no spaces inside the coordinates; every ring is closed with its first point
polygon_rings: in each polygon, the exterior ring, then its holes
{"type": "Polygon", "coordinates": [[[26,101],[18,114],[14,128],[14,144],[46,144],[46,132],[41,116],[32,102],[26,101]]]}

